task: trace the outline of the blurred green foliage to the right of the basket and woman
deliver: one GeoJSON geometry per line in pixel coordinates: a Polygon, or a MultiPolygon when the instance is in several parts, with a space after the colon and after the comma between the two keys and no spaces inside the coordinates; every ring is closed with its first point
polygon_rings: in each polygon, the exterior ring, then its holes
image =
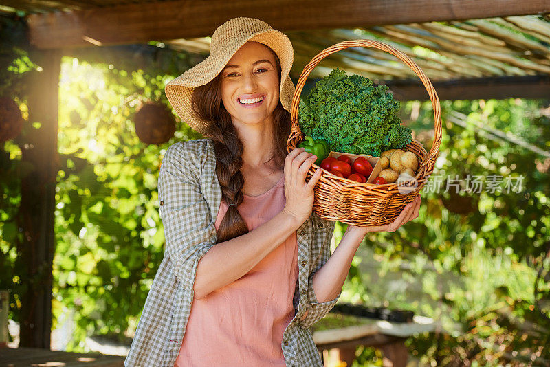
{"type": "MultiPolygon", "coordinates": [[[[353,260],[342,302],[410,309],[441,324],[407,341],[423,363],[497,366],[533,356],[533,366],[543,366],[550,360],[550,158],[535,149],[549,150],[549,105],[443,101],[443,141],[430,177],[441,182],[439,191],[425,189],[418,219],[393,234],[369,234],[353,260]],[[457,112],[465,127],[452,122],[457,112]],[[519,139],[532,150],[514,143],[519,139]],[[524,179],[516,192],[503,184],[503,190],[484,185],[467,192],[467,175],[485,185],[491,175],[524,179]],[[455,178],[459,193],[446,187],[455,178]]],[[[408,126],[428,149],[432,106],[408,102],[401,117],[413,110],[418,118],[408,126]]],[[[358,355],[365,365],[377,359],[371,349],[358,355]]]]}

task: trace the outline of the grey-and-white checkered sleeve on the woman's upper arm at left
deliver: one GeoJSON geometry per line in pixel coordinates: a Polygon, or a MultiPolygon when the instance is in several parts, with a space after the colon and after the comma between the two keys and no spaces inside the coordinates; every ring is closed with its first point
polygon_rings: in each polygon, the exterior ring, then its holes
{"type": "Polygon", "coordinates": [[[193,142],[170,146],[162,159],[158,181],[165,252],[178,280],[191,293],[197,263],[216,243],[208,202],[200,188],[200,147],[193,142]]]}

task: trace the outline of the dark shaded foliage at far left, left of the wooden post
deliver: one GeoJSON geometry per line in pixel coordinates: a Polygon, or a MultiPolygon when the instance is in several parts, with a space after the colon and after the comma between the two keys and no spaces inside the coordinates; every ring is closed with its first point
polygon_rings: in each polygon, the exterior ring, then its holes
{"type": "MultiPolygon", "coordinates": [[[[0,16],[0,96],[18,102],[23,118],[28,118],[26,81],[37,67],[29,58],[26,32],[25,22],[18,16],[0,16]]],[[[10,292],[10,318],[16,322],[20,321],[20,295],[28,289],[29,282],[36,281],[25,279],[19,258],[19,245],[23,241],[19,225],[21,179],[32,170],[27,162],[21,162],[21,146],[25,144],[25,136],[35,129],[25,122],[20,136],[3,143],[0,149],[0,289],[10,292]]]]}

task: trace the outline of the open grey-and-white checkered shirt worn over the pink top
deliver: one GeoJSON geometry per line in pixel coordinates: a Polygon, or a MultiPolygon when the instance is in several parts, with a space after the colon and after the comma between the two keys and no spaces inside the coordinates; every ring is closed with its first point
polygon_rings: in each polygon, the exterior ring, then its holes
{"type": "MultiPolygon", "coordinates": [[[[158,193],[166,249],[125,366],[173,367],[175,363],[193,301],[197,263],[216,243],[214,223],[221,187],[215,168],[210,139],[178,142],[164,155],[158,193]]],[[[281,345],[287,366],[322,366],[309,327],[330,311],[341,293],[334,300],[319,303],[312,280],[330,256],[335,224],[314,213],[297,230],[296,314],[285,329],[281,345]],[[306,318],[300,321],[306,311],[306,318]]]]}

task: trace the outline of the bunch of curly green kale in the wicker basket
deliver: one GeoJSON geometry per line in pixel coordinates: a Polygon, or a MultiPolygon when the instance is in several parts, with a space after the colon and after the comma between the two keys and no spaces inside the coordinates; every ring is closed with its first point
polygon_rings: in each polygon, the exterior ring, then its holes
{"type": "Polygon", "coordinates": [[[411,131],[395,115],[399,102],[387,90],[334,69],[300,100],[300,129],[329,142],[332,151],[380,157],[382,151],[404,148],[411,131]]]}

